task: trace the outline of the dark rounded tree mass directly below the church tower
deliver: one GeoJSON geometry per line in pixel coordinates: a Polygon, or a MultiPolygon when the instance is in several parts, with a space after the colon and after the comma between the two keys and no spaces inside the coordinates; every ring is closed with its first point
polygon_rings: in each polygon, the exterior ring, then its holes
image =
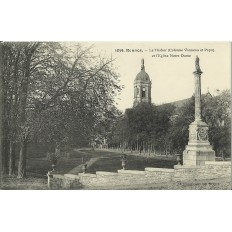
{"type": "Polygon", "coordinates": [[[153,145],[157,150],[163,149],[167,153],[167,135],[174,108],[170,104],[155,106],[141,103],[127,109],[117,125],[114,139],[118,138],[121,143],[126,142],[134,149],[140,147],[140,150],[148,150],[153,145]]]}

